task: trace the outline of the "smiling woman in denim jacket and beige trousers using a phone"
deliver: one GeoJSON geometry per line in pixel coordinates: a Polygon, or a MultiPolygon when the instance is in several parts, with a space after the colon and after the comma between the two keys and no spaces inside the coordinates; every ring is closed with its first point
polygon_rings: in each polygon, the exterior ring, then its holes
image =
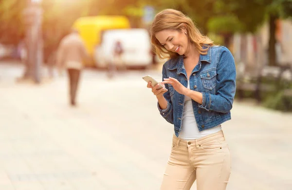
{"type": "Polygon", "coordinates": [[[151,43],[163,66],[164,88],[152,89],[164,119],[174,125],[161,190],[225,190],[231,159],[221,123],[231,119],[236,69],[231,52],[201,35],[180,11],[158,13],[151,43]]]}

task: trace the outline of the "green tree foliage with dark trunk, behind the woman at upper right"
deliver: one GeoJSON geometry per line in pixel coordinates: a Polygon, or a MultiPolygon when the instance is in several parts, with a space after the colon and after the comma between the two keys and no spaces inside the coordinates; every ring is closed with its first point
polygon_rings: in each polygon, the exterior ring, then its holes
{"type": "Polygon", "coordinates": [[[203,34],[213,32],[224,37],[226,46],[235,32],[255,33],[268,20],[270,25],[269,65],[276,65],[276,20],[292,17],[292,0],[148,0],[162,8],[182,9],[194,18],[203,34]]]}

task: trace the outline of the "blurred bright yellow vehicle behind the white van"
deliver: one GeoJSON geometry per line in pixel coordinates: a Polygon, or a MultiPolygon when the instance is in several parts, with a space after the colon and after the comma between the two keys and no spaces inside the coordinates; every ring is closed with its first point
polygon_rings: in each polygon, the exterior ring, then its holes
{"type": "MultiPolygon", "coordinates": [[[[88,53],[93,55],[94,48],[100,43],[101,35],[105,30],[130,28],[130,22],[124,16],[94,16],[80,17],[73,23],[85,42],[88,53]]],[[[86,66],[94,66],[93,61],[86,66]]]]}

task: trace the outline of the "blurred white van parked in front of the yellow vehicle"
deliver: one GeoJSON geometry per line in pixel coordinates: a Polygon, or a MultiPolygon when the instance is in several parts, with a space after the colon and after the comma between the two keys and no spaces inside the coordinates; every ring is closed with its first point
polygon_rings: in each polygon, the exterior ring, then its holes
{"type": "Polygon", "coordinates": [[[101,44],[95,47],[94,62],[98,68],[109,63],[119,66],[146,68],[152,64],[150,36],[146,29],[117,29],[104,31],[101,44]],[[121,42],[124,50],[119,61],[114,56],[114,47],[121,42]]]}

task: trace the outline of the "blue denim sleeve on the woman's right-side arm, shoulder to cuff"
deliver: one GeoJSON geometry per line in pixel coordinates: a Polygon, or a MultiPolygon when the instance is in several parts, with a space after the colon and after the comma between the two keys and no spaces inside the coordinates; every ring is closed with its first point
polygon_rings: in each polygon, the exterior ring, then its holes
{"type": "Polygon", "coordinates": [[[202,92],[203,101],[199,106],[207,111],[228,113],[236,92],[236,68],[232,53],[223,47],[217,58],[216,94],[202,92]]]}

